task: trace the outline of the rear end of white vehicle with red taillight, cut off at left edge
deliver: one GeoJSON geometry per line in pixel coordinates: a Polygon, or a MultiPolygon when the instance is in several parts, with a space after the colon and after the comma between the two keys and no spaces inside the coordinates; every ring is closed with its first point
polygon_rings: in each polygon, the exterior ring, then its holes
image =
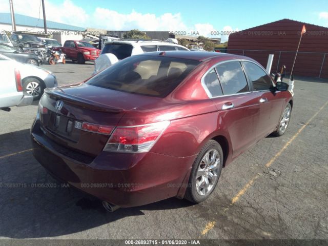
{"type": "Polygon", "coordinates": [[[27,106],[33,96],[23,92],[22,77],[15,61],[0,56],[0,109],[10,111],[13,106],[27,106]]]}

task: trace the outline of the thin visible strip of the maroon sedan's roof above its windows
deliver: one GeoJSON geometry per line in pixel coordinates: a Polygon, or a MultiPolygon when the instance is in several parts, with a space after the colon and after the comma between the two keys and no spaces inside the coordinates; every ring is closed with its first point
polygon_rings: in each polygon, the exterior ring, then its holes
{"type": "Polygon", "coordinates": [[[218,52],[210,52],[210,51],[156,51],[156,52],[148,52],[139,55],[153,55],[153,56],[166,56],[172,58],[183,58],[183,59],[192,59],[203,61],[209,58],[215,57],[229,57],[229,58],[247,58],[240,55],[227,54],[227,53],[218,53],[218,52]]]}

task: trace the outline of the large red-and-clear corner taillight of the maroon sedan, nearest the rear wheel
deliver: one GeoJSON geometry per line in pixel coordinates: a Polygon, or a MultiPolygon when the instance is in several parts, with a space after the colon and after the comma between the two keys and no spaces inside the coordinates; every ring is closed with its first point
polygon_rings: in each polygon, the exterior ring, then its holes
{"type": "Polygon", "coordinates": [[[135,127],[117,127],[109,138],[104,151],[139,153],[147,152],[154,146],[170,121],[135,127]]]}

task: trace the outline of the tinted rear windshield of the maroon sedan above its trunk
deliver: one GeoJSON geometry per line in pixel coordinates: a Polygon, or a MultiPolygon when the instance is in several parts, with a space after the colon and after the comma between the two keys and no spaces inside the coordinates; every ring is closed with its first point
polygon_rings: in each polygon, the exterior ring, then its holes
{"type": "Polygon", "coordinates": [[[162,56],[131,56],[87,81],[111,90],[166,97],[200,61],[162,56]]]}

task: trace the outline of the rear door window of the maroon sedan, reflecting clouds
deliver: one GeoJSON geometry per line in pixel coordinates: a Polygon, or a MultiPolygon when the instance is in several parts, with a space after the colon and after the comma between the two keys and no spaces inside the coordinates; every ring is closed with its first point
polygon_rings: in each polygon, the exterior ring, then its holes
{"type": "Polygon", "coordinates": [[[216,71],[219,75],[224,95],[249,91],[247,80],[239,61],[219,64],[216,66],[216,71]]]}

